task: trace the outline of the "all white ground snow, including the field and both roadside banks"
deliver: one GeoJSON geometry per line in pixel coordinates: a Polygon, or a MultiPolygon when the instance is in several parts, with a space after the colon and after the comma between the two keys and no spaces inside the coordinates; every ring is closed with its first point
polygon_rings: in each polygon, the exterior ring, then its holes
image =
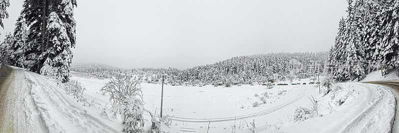
{"type": "MultiPolygon", "coordinates": [[[[55,80],[24,69],[15,68],[19,80],[30,85],[31,109],[37,109],[42,126],[49,132],[122,132],[119,115],[108,111],[108,97],[99,90],[107,78],[72,72],[86,88],[84,97],[96,106],[83,106],[81,100],[65,93],[55,80]],[[23,77],[21,77],[23,76],[23,77]]],[[[302,79],[296,82],[310,82],[302,79]]],[[[289,81],[281,81],[289,83],[289,81]]],[[[277,83],[275,83],[277,84],[277,83]]],[[[142,83],[145,109],[160,113],[161,85],[142,83]]],[[[163,115],[172,117],[165,131],[204,133],[250,133],[254,122],[256,133],[284,132],[390,132],[395,113],[395,99],[386,87],[364,83],[339,83],[330,93],[319,95],[318,85],[286,85],[269,89],[262,85],[164,86],[163,115]],[[266,95],[262,95],[267,92],[266,95]],[[258,97],[255,97],[258,94],[258,97]],[[280,95],[279,95],[280,94],[280,95]],[[309,108],[315,97],[319,115],[305,115],[304,121],[290,121],[298,107],[309,108]],[[267,102],[252,107],[254,102],[267,102]],[[248,126],[247,126],[248,125],[248,126]],[[235,128],[234,128],[235,127],[235,128]]],[[[326,88],[322,88],[325,91],[326,88]]],[[[90,104],[91,105],[91,104],[90,104]]],[[[151,126],[151,116],[145,113],[145,128],[151,126]]],[[[37,119],[37,117],[36,117],[37,119]]],[[[37,123],[37,122],[36,122],[37,123]]]]}

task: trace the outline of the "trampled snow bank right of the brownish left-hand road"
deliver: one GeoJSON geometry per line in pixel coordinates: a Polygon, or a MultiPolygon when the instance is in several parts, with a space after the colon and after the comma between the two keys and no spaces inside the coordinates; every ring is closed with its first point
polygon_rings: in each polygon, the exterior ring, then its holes
{"type": "Polygon", "coordinates": [[[105,112],[83,106],[83,103],[77,102],[77,99],[64,92],[54,79],[19,68],[14,69],[15,72],[24,75],[18,79],[25,79],[31,85],[30,95],[46,131],[50,133],[122,131],[120,119],[104,117],[105,112]]]}

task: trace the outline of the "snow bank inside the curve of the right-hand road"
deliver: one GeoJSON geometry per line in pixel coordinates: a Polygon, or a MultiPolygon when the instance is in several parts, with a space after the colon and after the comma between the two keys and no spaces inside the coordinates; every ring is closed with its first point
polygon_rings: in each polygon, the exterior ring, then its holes
{"type": "Polygon", "coordinates": [[[288,124],[279,132],[339,133],[391,131],[395,98],[384,86],[341,83],[340,88],[320,97],[322,117],[288,124]]]}

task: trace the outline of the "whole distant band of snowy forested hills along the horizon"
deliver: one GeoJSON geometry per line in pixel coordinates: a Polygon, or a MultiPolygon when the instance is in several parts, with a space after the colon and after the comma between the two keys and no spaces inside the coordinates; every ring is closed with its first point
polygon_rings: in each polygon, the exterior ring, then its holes
{"type": "Polygon", "coordinates": [[[268,53],[233,57],[185,70],[176,68],[122,69],[101,64],[72,64],[71,70],[102,77],[119,72],[134,72],[146,75],[144,79],[146,81],[160,79],[162,74],[167,74],[169,75],[168,82],[175,83],[245,84],[315,76],[318,72],[324,72],[327,59],[328,52],[268,53]]]}

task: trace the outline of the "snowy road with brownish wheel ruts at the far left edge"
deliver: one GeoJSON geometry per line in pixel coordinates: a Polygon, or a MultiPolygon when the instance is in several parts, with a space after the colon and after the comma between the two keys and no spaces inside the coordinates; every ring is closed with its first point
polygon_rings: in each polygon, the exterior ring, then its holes
{"type": "Polygon", "coordinates": [[[0,69],[0,132],[46,132],[23,73],[4,65],[0,69]]]}

